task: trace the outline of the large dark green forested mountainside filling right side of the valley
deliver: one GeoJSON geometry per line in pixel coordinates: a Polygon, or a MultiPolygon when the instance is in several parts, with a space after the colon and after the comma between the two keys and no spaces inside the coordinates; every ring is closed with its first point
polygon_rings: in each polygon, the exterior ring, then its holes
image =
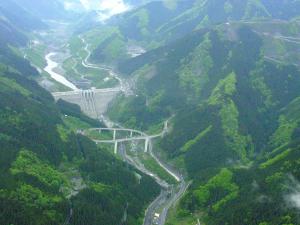
{"type": "Polygon", "coordinates": [[[299,224],[299,2],[249,1],[246,18],[226,1],[230,21],[202,2],[209,26],[119,63],[136,96],[110,116],[145,130],[175,115],[158,147],[193,184],[167,224],[299,224]]]}

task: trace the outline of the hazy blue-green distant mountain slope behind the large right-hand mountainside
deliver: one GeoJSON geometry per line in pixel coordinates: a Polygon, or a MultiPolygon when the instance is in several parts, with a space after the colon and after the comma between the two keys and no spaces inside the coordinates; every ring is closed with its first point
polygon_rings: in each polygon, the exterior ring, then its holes
{"type": "Polygon", "coordinates": [[[298,1],[191,0],[150,1],[128,13],[113,17],[94,32],[105,38],[95,40],[92,59],[114,63],[128,55],[128,47],[153,49],[188,35],[194,30],[233,21],[290,20],[298,16],[298,1]],[[117,53],[116,53],[117,52],[117,53]]]}

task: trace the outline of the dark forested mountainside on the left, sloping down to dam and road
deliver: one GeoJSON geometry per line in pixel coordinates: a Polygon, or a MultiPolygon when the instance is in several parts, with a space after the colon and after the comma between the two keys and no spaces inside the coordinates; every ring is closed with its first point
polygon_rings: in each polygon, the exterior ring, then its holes
{"type": "Polygon", "coordinates": [[[77,133],[101,124],[34,81],[18,48],[39,26],[1,12],[0,224],[140,224],[157,184],[77,133]]]}

